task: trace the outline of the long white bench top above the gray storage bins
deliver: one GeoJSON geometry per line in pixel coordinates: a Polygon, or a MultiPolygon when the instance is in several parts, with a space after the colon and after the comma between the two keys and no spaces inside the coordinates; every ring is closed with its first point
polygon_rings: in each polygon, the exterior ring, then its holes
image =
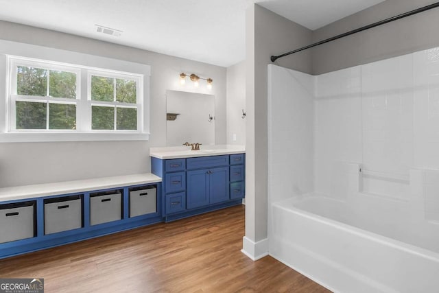
{"type": "Polygon", "coordinates": [[[146,173],[132,174],[126,176],[93,178],[86,180],[64,181],[58,183],[3,187],[0,188],[0,201],[73,194],[99,189],[126,187],[130,185],[141,185],[147,183],[158,183],[161,181],[162,179],[160,177],[151,173],[146,173]]]}

